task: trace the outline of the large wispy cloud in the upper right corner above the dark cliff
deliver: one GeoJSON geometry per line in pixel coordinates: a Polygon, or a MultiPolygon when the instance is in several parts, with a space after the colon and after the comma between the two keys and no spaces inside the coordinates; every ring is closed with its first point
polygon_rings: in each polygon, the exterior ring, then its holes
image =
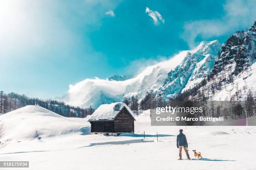
{"type": "Polygon", "coordinates": [[[224,15],[220,19],[195,20],[184,23],[181,37],[190,47],[195,47],[197,37],[210,38],[226,35],[236,28],[249,26],[256,19],[255,0],[226,0],[224,15]]]}

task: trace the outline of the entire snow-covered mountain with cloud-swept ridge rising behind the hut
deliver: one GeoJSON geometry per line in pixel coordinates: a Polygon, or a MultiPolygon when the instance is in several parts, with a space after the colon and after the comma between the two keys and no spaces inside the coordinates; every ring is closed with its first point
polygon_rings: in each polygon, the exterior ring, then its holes
{"type": "Polygon", "coordinates": [[[203,41],[195,49],[181,51],[169,60],[150,65],[128,80],[95,77],[70,85],[68,92],[58,100],[70,105],[97,108],[101,104],[122,101],[123,97],[137,96],[140,100],[147,92],[172,97],[207,75],[220,48],[218,40],[203,41]]]}

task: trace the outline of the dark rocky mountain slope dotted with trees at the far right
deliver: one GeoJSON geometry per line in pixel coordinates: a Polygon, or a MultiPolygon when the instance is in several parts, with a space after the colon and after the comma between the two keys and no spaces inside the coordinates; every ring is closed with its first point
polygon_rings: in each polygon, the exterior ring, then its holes
{"type": "Polygon", "coordinates": [[[255,94],[255,42],[256,21],[249,30],[237,31],[228,37],[210,75],[199,87],[184,89],[183,98],[187,96],[190,100],[197,100],[207,96],[213,100],[243,100],[248,95],[255,94]]]}

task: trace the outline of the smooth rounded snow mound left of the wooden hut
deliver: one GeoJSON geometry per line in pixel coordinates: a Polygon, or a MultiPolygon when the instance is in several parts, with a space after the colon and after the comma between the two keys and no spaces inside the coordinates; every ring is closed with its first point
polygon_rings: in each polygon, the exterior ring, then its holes
{"type": "Polygon", "coordinates": [[[86,118],[63,117],[45,108],[28,105],[0,117],[4,125],[2,140],[33,140],[36,131],[41,140],[70,133],[90,134],[86,118]]]}

